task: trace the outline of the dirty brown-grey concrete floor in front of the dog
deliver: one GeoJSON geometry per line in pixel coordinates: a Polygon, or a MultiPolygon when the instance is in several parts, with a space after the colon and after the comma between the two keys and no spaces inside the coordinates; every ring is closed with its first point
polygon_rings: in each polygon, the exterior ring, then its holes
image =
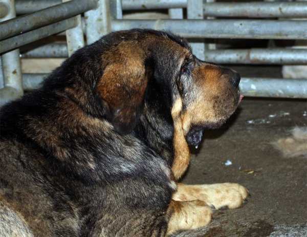
{"type": "Polygon", "coordinates": [[[306,100],[244,98],[220,130],[207,131],[191,149],[182,182],[239,183],[252,198],[238,209],[215,210],[209,226],[180,236],[307,236],[307,159],[283,158],[270,144],[306,126],[306,111],[306,100]]]}

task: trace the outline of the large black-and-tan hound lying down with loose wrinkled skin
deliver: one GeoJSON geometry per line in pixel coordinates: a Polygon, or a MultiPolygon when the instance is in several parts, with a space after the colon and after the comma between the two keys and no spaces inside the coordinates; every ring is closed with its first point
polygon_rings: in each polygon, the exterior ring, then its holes
{"type": "Polygon", "coordinates": [[[170,32],[113,32],[1,109],[1,236],[167,236],[236,208],[238,184],[178,180],[242,96],[170,32]]]}

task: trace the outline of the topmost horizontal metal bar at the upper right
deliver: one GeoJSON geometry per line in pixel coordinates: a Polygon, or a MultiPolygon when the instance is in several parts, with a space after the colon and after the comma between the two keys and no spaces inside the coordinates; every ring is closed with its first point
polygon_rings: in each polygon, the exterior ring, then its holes
{"type": "Polygon", "coordinates": [[[300,18],[307,17],[306,2],[280,3],[280,2],[256,2],[256,3],[205,3],[204,14],[206,16],[220,17],[266,17],[266,18],[300,18]]]}

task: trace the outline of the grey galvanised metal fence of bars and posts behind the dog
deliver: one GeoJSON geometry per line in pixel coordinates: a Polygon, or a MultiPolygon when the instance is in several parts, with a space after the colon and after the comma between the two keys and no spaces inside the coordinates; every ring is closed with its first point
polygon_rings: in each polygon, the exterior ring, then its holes
{"type": "MultiPolygon", "coordinates": [[[[19,47],[66,31],[67,44],[28,50],[24,58],[68,57],[86,43],[117,30],[170,30],[193,39],[200,59],[223,64],[306,64],[305,49],[216,50],[207,38],[307,39],[306,2],[214,3],[214,0],[45,0],[0,2],[0,53],[3,104],[33,90],[44,74],[21,74],[19,47]],[[123,10],[168,9],[170,19],[128,20],[123,10]],[[186,19],[183,19],[186,9],[186,19]],[[84,17],[81,14],[84,13],[84,17]],[[21,15],[16,17],[17,15],[21,15]],[[23,15],[26,14],[26,15],[23,15]],[[220,17],[216,19],[216,17],[220,17]],[[249,19],[251,18],[251,19],[249,19]],[[291,19],[290,19],[291,18],[291,19]],[[292,19],[296,18],[296,19],[292,19]]],[[[25,47],[24,47],[25,48],[25,47]]],[[[307,80],[242,78],[245,96],[306,98],[307,80]]]]}

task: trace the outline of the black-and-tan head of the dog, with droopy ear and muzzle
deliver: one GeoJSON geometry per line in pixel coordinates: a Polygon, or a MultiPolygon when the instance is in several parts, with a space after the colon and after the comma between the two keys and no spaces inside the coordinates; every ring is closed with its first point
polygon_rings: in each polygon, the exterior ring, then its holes
{"type": "Polygon", "coordinates": [[[187,144],[198,145],[204,128],[220,126],[236,110],[239,74],[196,58],[185,39],[170,33],[131,30],[101,40],[107,50],[96,92],[115,130],[133,131],[149,104],[152,116],[165,116],[172,127],[172,168],[179,178],[189,160],[187,144]]]}

